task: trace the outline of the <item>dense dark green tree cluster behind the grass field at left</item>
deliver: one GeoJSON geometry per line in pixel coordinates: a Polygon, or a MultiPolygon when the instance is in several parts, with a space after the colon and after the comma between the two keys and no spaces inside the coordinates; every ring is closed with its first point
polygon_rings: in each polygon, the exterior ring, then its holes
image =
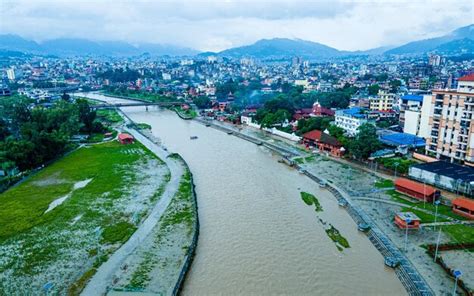
{"type": "Polygon", "coordinates": [[[72,135],[103,132],[86,100],[61,100],[51,108],[33,107],[23,97],[0,101],[1,169],[35,168],[70,148],[72,135]]]}

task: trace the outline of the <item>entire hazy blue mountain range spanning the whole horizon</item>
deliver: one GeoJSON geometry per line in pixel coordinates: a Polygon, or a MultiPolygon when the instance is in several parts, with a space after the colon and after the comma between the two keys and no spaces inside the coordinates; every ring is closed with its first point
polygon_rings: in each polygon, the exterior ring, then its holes
{"type": "Polygon", "coordinates": [[[419,55],[430,52],[459,55],[474,53],[474,24],[454,30],[445,36],[419,40],[398,47],[379,47],[365,51],[341,51],[317,42],[301,39],[262,39],[254,44],[230,48],[221,52],[199,53],[197,50],[173,45],[142,43],[131,45],[120,41],[90,41],[61,38],[37,43],[17,35],[0,35],[0,51],[58,56],[210,56],[256,59],[288,59],[294,56],[308,60],[341,58],[356,55],[419,55]]]}

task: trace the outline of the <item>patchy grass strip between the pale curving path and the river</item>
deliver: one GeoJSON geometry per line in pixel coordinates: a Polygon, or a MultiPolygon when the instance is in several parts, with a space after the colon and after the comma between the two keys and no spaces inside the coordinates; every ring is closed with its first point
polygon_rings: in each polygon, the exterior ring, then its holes
{"type": "Polygon", "coordinates": [[[186,167],[178,192],[150,235],[115,273],[110,295],[114,291],[176,295],[181,288],[194,256],[199,224],[192,174],[179,156],[175,159],[186,167]]]}

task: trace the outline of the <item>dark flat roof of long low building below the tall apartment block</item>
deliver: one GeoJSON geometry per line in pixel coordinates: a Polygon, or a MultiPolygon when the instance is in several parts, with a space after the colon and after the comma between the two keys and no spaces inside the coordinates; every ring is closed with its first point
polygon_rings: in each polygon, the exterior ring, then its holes
{"type": "Polygon", "coordinates": [[[429,163],[416,164],[412,167],[419,168],[438,175],[443,175],[454,180],[474,183],[474,168],[462,166],[446,161],[434,161],[429,163]]]}

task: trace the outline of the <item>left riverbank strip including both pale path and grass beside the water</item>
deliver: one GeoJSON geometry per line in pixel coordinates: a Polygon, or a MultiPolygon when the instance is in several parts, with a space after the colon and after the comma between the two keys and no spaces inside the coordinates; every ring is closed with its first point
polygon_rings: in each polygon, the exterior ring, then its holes
{"type": "Polygon", "coordinates": [[[164,160],[171,178],[161,199],[130,239],[91,279],[83,295],[114,291],[176,294],[194,255],[199,233],[192,175],[186,163],[157,145],[149,129],[128,128],[135,123],[123,112],[124,130],[164,160]],[[176,290],[176,291],[175,291],[176,290]]]}

